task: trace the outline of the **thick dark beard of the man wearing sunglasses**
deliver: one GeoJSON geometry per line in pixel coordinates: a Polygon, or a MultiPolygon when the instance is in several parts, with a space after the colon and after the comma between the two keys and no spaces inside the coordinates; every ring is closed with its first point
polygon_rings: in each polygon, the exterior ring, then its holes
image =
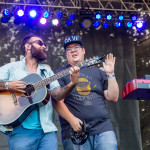
{"type": "Polygon", "coordinates": [[[33,58],[36,58],[38,61],[44,61],[47,59],[45,51],[41,51],[34,46],[31,47],[31,54],[33,58]]]}

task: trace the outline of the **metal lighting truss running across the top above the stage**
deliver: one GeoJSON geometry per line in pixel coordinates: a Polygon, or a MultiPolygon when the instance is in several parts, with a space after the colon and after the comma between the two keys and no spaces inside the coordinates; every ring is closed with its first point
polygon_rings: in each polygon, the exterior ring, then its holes
{"type": "Polygon", "coordinates": [[[90,9],[118,12],[145,12],[150,14],[150,0],[0,0],[0,5],[23,5],[36,7],[90,9]]]}

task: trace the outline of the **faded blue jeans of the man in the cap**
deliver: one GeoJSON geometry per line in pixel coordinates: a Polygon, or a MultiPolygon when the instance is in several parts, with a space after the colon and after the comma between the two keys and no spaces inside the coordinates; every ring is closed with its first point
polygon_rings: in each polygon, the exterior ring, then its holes
{"type": "Polygon", "coordinates": [[[117,150],[117,140],[114,131],[107,131],[89,136],[83,145],[75,145],[71,139],[63,141],[64,150],[117,150]]]}

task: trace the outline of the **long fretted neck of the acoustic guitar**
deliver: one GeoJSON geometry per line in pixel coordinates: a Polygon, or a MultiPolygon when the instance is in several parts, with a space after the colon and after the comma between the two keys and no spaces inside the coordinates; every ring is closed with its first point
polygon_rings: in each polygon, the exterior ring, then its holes
{"type": "MultiPolygon", "coordinates": [[[[76,66],[79,67],[79,68],[82,68],[82,67],[83,67],[82,63],[79,63],[79,64],[76,65],[76,66]]],[[[49,78],[46,78],[46,79],[44,79],[44,80],[42,80],[42,81],[39,81],[39,82],[35,83],[35,84],[33,85],[33,86],[34,86],[34,89],[38,90],[38,89],[40,89],[40,88],[46,86],[47,84],[49,84],[49,83],[51,83],[51,82],[53,82],[53,81],[55,81],[55,80],[57,80],[57,79],[60,79],[60,78],[62,78],[62,77],[64,77],[64,76],[68,75],[68,74],[69,74],[69,70],[70,70],[70,68],[65,69],[65,70],[62,70],[62,71],[60,71],[60,72],[54,74],[53,76],[51,76],[51,77],[49,77],[49,78]]]]}

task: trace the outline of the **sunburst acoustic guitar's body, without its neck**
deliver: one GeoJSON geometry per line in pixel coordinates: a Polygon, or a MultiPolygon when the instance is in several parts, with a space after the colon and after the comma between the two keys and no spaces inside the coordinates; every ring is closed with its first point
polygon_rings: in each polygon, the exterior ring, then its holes
{"type": "MultiPolygon", "coordinates": [[[[23,78],[26,85],[33,85],[41,81],[38,74],[30,74],[23,78]]],[[[29,96],[18,92],[0,91],[0,124],[7,127],[19,126],[29,114],[48,103],[50,93],[44,86],[33,90],[29,96]]]]}

